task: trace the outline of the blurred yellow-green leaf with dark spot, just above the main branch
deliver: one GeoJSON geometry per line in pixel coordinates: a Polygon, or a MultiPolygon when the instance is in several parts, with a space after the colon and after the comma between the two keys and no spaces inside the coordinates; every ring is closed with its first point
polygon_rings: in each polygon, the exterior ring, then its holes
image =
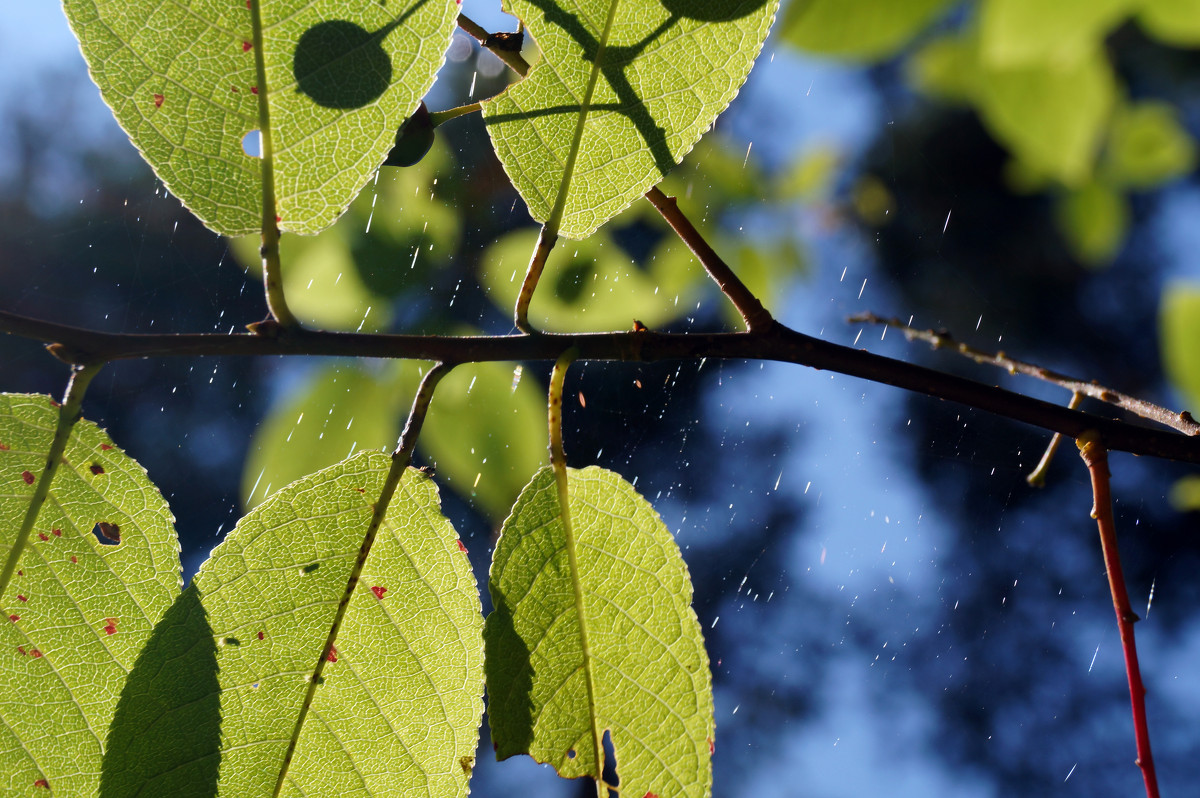
{"type": "MultiPolygon", "coordinates": [[[[499,308],[516,304],[536,240],[535,229],[515,230],[484,252],[480,282],[499,308]]],[[[694,268],[698,275],[700,266],[694,268]]],[[[557,332],[628,330],[634,319],[654,328],[692,310],[686,301],[680,307],[678,293],[666,290],[602,232],[554,248],[541,286],[529,305],[529,319],[557,332]]]]}

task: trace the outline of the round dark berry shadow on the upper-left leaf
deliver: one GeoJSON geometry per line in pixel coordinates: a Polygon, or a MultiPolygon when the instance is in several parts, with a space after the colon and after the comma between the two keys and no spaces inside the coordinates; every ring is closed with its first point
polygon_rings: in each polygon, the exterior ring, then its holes
{"type": "Polygon", "coordinates": [[[296,88],[324,108],[361,108],[391,84],[391,59],[382,43],[396,24],[371,32],[346,19],[317,23],[296,42],[296,88]]]}

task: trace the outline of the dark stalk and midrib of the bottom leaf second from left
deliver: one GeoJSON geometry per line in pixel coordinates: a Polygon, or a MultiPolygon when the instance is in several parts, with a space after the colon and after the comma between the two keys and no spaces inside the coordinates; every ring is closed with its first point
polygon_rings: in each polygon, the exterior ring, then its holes
{"type": "Polygon", "coordinates": [[[354,589],[359,584],[359,577],[362,576],[362,566],[367,562],[367,557],[371,554],[371,548],[374,546],[376,538],[379,535],[379,528],[383,526],[383,521],[388,515],[388,506],[391,504],[391,498],[396,494],[396,487],[400,485],[401,478],[404,475],[404,469],[413,461],[413,449],[416,446],[416,438],[421,432],[421,425],[425,424],[425,415],[430,409],[430,401],[433,398],[433,389],[437,388],[438,383],[443,377],[452,368],[452,366],[446,366],[445,364],[437,364],[433,368],[425,374],[425,379],[421,380],[420,386],[416,389],[416,396],[413,397],[413,409],[408,413],[408,421],[404,424],[404,432],[400,437],[400,444],[396,446],[396,451],[391,455],[391,467],[388,469],[388,475],[384,478],[383,490],[379,492],[379,500],[374,503],[373,511],[371,514],[371,522],[367,524],[366,534],[362,538],[362,545],[359,546],[358,557],[354,560],[354,566],[350,569],[349,578],[346,581],[346,589],[342,592],[342,599],[337,604],[337,611],[334,613],[334,622],[329,626],[329,635],[325,637],[325,644],[320,649],[320,656],[317,659],[317,665],[313,667],[312,673],[308,678],[308,690],[305,694],[304,703],[300,706],[300,714],[296,715],[295,726],[292,730],[292,737],[288,740],[287,751],[283,755],[283,763],[280,767],[280,776],[275,782],[275,796],[278,796],[283,790],[283,782],[287,780],[288,768],[292,766],[292,757],[295,755],[296,743],[300,740],[300,732],[304,728],[305,720],[308,716],[308,709],[312,707],[313,698],[317,695],[317,688],[322,682],[322,673],[325,670],[325,662],[329,661],[329,654],[334,650],[334,644],[337,642],[337,632],[342,629],[342,620],[346,618],[346,611],[350,606],[350,599],[354,596],[354,589]]]}

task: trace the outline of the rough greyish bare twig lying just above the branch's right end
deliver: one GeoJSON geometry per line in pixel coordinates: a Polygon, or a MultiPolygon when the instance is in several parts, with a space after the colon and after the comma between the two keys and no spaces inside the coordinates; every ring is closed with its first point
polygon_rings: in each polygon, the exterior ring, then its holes
{"type": "Polygon", "coordinates": [[[1060,374],[1058,372],[1050,371],[1049,368],[1044,368],[1042,366],[1034,366],[1021,360],[1015,360],[1006,355],[1003,352],[992,353],[984,352],[983,349],[976,349],[972,346],[955,341],[954,336],[946,331],[918,330],[917,328],[905,324],[900,319],[884,318],[882,316],[876,316],[875,313],[857,313],[851,316],[847,320],[851,323],[884,324],[901,330],[905,334],[905,337],[910,341],[919,338],[920,341],[929,343],[935,349],[950,349],[970,358],[971,360],[974,360],[978,364],[997,366],[1006,370],[1010,374],[1025,374],[1026,377],[1033,377],[1034,379],[1040,379],[1043,382],[1058,385],[1060,388],[1066,388],[1068,391],[1074,391],[1076,394],[1082,394],[1084,396],[1100,400],[1102,402],[1108,402],[1109,404],[1115,404],[1121,409],[1129,410],[1130,413],[1140,415],[1150,421],[1157,421],[1164,426],[1178,430],[1183,434],[1200,434],[1200,422],[1193,419],[1192,414],[1187,410],[1176,413],[1162,407],[1160,404],[1154,404],[1153,402],[1147,402],[1145,400],[1115,391],[1110,388],[1104,388],[1096,382],[1084,382],[1074,377],[1060,374]]]}

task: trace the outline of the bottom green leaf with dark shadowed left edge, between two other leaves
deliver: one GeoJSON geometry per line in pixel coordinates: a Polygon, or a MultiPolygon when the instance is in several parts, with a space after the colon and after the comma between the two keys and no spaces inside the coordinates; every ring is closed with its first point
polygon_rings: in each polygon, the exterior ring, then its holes
{"type": "MultiPolygon", "coordinates": [[[[272,794],[390,462],[361,452],[294,482],[212,552],[176,623],[155,631],[163,644],[148,647],[130,677],[139,689],[121,697],[114,722],[109,794],[272,794]],[[197,695],[196,684],[212,688],[197,695]],[[191,734],[160,745],[180,719],[191,734]],[[214,758],[220,767],[205,770],[214,758]],[[198,784],[197,773],[217,781],[198,784]]],[[[409,469],[280,794],[466,796],[482,713],[480,626],[474,577],[437,488],[409,469]]]]}

